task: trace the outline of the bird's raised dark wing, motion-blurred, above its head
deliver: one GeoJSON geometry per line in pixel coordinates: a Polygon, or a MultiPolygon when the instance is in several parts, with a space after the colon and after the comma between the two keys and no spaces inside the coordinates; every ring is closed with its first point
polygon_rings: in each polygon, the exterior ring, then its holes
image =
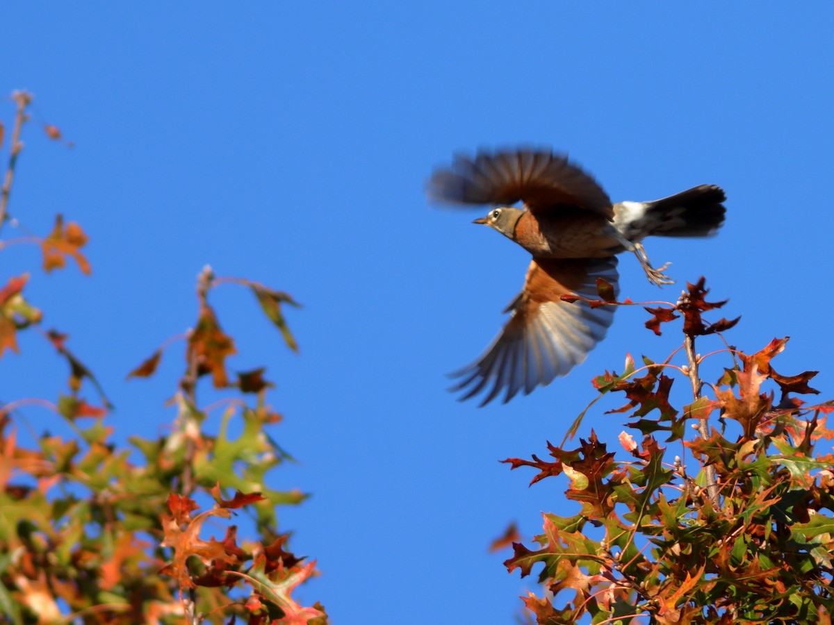
{"type": "Polygon", "coordinates": [[[571,206],[614,216],[608,194],[594,178],[550,150],[479,152],[475,160],[457,156],[451,168],[435,170],[428,193],[438,202],[512,206],[521,201],[533,213],[571,206]]]}

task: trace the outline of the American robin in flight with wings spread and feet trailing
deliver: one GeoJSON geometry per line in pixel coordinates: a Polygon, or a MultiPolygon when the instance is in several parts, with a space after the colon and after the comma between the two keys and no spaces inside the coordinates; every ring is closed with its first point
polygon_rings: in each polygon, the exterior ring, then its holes
{"type": "Polygon", "coordinates": [[[611,204],[594,178],[565,155],[517,149],[458,156],[435,170],[430,198],[459,204],[490,204],[474,223],[494,228],[533,255],[521,289],[505,313],[510,320],[475,363],[452,373],[453,391],[468,399],[486,389],[484,406],[506,389],[504,402],[520,390],[529,394],[585,360],[605,337],[613,306],[591,308],[565,294],[599,299],[596,278],[617,293],[617,259],[635,253],[646,276],[671,284],[653,268],[640,243],[650,235],[708,237],[724,222],[724,191],[702,184],[654,202],[611,204]],[[521,202],[522,207],[513,204],[521,202]]]}

